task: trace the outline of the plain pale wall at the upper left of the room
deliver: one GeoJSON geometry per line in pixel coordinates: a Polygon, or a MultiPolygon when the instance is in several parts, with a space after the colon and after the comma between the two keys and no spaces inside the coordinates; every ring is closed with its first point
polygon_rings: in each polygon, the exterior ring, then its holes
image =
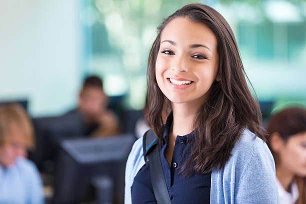
{"type": "Polygon", "coordinates": [[[0,0],[0,100],[27,97],[31,115],[58,114],[80,83],[78,0],[0,0]]]}

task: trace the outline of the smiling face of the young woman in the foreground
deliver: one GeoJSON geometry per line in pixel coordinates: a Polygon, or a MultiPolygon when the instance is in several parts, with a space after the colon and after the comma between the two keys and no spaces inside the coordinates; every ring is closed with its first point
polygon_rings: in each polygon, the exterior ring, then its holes
{"type": "Polygon", "coordinates": [[[216,79],[217,66],[217,40],[206,25],[177,17],[164,27],[155,75],[171,102],[203,104],[216,79]]]}

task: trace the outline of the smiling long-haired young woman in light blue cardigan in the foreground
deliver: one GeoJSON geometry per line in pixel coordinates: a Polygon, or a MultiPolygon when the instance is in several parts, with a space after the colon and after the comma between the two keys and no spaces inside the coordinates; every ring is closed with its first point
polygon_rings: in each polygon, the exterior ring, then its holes
{"type": "MultiPolygon", "coordinates": [[[[147,65],[147,116],[172,203],[279,202],[244,74],[232,30],[213,8],[185,5],[158,27],[147,65]]],[[[156,203],[141,138],[127,159],[125,203],[156,203]]]]}

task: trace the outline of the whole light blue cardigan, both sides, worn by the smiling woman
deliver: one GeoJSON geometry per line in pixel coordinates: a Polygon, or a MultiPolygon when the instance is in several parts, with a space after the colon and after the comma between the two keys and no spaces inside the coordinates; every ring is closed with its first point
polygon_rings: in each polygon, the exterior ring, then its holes
{"type": "MultiPolygon", "coordinates": [[[[126,162],[125,204],[131,203],[130,187],[143,164],[142,138],[139,138],[126,162]]],[[[272,154],[248,129],[243,131],[221,170],[212,170],[210,203],[279,203],[272,154]]]]}

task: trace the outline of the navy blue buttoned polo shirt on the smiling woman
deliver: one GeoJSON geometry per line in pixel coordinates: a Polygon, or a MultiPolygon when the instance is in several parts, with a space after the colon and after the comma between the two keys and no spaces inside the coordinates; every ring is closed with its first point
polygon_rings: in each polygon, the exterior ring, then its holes
{"type": "MultiPolygon", "coordinates": [[[[170,113],[165,124],[162,146],[159,152],[171,202],[175,204],[209,203],[211,172],[207,174],[196,174],[193,172],[188,177],[182,177],[182,175],[178,173],[180,167],[187,160],[191,152],[193,146],[193,139],[191,139],[193,132],[184,136],[176,136],[170,166],[165,158],[164,151],[167,146],[168,132],[172,121],[173,115],[170,113]]],[[[134,177],[131,186],[131,200],[133,204],[156,203],[150,177],[150,168],[147,163],[139,169],[134,177]]]]}

